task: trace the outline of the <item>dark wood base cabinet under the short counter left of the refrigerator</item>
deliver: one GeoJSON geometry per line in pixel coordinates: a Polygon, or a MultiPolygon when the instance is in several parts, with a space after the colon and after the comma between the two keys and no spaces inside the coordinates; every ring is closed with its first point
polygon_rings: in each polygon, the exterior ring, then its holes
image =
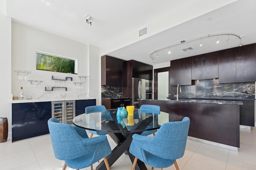
{"type": "Polygon", "coordinates": [[[117,109],[118,107],[126,107],[132,104],[132,98],[120,98],[120,99],[101,99],[102,105],[106,109],[117,109]]]}

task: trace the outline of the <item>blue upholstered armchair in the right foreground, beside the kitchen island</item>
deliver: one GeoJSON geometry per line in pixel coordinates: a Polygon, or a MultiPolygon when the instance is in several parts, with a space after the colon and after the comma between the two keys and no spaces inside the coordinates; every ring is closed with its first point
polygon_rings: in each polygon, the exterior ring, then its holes
{"type": "Polygon", "coordinates": [[[179,170],[176,159],[184,155],[190,119],[164,123],[155,136],[132,135],[130,153],[135,156],[132,170],[137,160],[155,168],[166,168],[175,165],[179,170]]]}

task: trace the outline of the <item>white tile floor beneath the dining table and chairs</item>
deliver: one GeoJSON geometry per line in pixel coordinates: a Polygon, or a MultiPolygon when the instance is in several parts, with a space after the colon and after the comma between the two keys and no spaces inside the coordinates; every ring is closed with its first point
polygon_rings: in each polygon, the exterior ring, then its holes
{"type": "MultiPolygon", "coordinates": [[[[115,143],[109,136],[108,141],[114,148],[115,143]]],[[[238,152],[188,139],[185,154],[177,162],[180,170],[256,170],[256,127],[240,128],[238,152]]],[[[61,170],[63,164],[64,161],[54,157],[49,134],[0,143],[0,170],[61,170]]],[[[131,167],[129,157],[123,154],[111,170],[130,170],[131,167]]],[[[175,167],[164,170],[175,170],[175,167]]]]}

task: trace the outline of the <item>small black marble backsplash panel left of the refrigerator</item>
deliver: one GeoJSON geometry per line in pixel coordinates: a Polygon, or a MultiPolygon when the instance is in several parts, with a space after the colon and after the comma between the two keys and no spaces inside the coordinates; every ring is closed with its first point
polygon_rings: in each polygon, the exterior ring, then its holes
{"type": "Polygon", "coordinates": [[[122,98],[123,87],[122,86],[101,86],[101,97],[102,98],[122,98]]]}

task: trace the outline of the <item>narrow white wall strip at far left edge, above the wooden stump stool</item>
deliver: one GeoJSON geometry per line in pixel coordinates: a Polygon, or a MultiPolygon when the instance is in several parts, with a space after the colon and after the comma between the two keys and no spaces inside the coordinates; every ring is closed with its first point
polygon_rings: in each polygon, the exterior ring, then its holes
{"type": "Polygon", "coordinates": [[[6,0],[0,0],[1,97],[0,117],[7,117],[8,132],[12,131],[11,111],[11,18],[6,17],[6,0]]]}

